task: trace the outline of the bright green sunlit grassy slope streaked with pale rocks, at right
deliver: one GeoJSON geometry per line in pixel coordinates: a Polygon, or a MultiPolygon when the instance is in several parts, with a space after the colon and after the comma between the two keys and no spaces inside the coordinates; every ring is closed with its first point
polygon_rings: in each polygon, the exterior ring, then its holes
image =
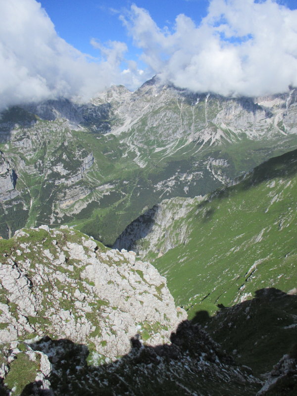
{"type": "Polygon", "coordinates": [[[177,303],[211,313],[258,289],[296,287],[296,171],[297,150],[193,207],[188,243],[154,262],[177,303]]]}

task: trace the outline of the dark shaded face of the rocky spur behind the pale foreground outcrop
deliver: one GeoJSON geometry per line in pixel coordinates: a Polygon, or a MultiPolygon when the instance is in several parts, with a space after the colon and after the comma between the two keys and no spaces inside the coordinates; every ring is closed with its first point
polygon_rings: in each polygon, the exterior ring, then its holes
{"type": "Polygon", "coordinates": [[[151,209],[148,209],[144,214],[133,220],[116,239],[112,248],[137,251],[135,243],[150,233],[158,208],[158,205],[154,205],[151,209]]]}

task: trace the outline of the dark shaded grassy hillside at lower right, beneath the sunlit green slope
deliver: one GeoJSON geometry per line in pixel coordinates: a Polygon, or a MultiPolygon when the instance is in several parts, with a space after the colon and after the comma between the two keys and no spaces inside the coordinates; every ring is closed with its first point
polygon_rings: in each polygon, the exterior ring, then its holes
{"type": "Polygon", "coordinates": [[[224,307],[204,324],[223,348],[236,351],[241,363],[264,373],[297,343],[297,295],[260,289],[254,298],[224,307]]]}

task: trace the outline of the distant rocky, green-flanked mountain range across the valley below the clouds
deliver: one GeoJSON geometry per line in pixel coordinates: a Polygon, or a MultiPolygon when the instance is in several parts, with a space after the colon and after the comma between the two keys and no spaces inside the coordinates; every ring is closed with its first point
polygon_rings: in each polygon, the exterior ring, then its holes
{"type": "Polygon", "coordinates": [[[91,103],[12,107],[0,120],[0,235],[73,225],[111,246],[164,198],[205,195],[297,146],[297,91],[193,94],[154,78],[91,103]]]}

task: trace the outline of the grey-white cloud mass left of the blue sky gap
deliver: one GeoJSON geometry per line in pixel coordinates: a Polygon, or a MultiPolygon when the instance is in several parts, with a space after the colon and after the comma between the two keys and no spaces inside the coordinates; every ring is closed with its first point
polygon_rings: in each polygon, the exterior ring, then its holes
{"type": "Polygon", "coordinates": [[[135,67],[121,72],[124,43],[92,44],[100,62],[58,37],[37,1],[0,1],[0,107],[60,96],[90,99],[110,84],[136,88],[143,82],[135,67]]]}

